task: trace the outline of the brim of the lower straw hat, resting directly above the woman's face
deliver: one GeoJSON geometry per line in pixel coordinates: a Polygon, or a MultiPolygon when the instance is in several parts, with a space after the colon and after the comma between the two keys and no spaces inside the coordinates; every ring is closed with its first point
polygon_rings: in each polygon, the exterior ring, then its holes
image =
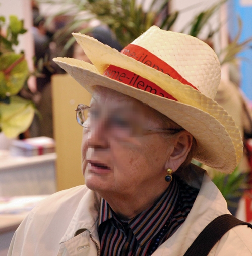
{"type": "MultiPolygon", "coordinates": [[[[72,58],[54,58],[53,60],[91,94],[96,85],[111,88],[148,104],[181,125],[197,141],[194,158],[199,162],[221,172],[231,173],[240,161],[242,145],[239,130],[232,118],[214,100],[205,96],[207,100],[199,108],[105,77],[94,65],[84,61],[72,58]]],[[[161,72],[157,71],[157,73],[161,72]]]]}

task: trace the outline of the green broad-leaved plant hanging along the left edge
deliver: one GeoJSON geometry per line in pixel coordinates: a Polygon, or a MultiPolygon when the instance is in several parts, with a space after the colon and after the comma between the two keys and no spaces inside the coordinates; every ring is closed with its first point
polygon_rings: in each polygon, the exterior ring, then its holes
{"type": "Polygon", "coordinates": [[[11,15],[8,24],[0,16],[0,132],[8,138],[29,128],[35,110],[32,101],[18,95],[26,86],[29,69],[24,53],[16,53],[14,47],[25,32],[23,21],[16,16],[11,15]]]}

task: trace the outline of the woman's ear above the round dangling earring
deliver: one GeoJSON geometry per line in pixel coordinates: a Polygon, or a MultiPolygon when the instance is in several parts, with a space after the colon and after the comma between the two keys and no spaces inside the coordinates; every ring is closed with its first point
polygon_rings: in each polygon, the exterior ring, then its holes
{"type": "Polygon", "coordinates": [[[181,131],[174,139],[173,151],[165,163],[165,168],[171,168],[175,172],[185,161],[193,143],[193,135],[187,131],[181,131]]]}

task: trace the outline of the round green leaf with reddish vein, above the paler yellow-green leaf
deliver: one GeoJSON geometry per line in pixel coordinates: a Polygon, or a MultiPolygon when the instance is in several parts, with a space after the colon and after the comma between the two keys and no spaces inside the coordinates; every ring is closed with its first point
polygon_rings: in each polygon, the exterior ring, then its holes
{"type": "Polygon", "coordinates": [[[0,56],[0,97],[15,95],[22,89],[29,74],[26,60],[18,63],[22,57],[13,52],[0,56]]]}

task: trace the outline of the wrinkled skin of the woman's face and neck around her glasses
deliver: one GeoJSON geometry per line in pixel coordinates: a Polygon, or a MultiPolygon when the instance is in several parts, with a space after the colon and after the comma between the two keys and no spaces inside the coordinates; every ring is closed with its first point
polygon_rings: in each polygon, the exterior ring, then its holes
{"type": "MultiPolygon", "coordinates": [[[[163,128],[156,111],[138,100],[97,86],[91,106],[111,110],[133,107],[140,110],[144,127],[163,128]]],[[[164,138],[161,134],[132,136],[118,140],[102,126],[90,132],[84,130],[82,142],[82,170],[88,188],[105,198],[112,209],[125,219],[134,217],[165,191],[166,169],[175,171],[187,156],[191,135],[183,131],[180,135],[164,138]],[[185,148],[186,147],[186,148],[185,148]],[[183,156],[181,158],[181,152],[183,156]],[[180,154],[180,155],[179,155],[180,154]],[[106,165],[107,170],[94,168],[92,163],[106,165]]]]}

